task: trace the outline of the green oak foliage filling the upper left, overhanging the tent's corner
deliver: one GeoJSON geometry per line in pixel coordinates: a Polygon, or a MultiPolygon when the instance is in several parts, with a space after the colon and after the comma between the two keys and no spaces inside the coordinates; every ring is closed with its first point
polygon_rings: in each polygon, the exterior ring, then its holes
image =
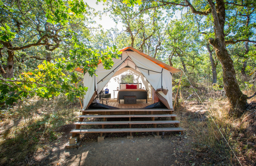
{"type": "Polygon", "coordinates": [[[82,0],[0,5],[0,101],[7,105],[35,95],[83,97],[88,88],[74,86],[81,80],[74,68],[83,66],[92,76],[99,63],[110,69],[120,54],[116,46],[97,50],[86,45],[85,25],[92,13],[82,0]]]}

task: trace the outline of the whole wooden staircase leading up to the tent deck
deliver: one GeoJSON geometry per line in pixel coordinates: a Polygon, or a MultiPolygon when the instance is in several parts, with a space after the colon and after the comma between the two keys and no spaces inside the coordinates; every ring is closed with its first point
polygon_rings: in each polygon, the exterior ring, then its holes
{"type": "MultiPolygon", "coordinates": [[[[76,122],[76,129],[72,130],[72,138],[79,139],[80,133],[100,133],[98,142],[104,140],[108,132],[127,132],[127,138],[132,138],[132,132],[156,132],[155,136],[159,137],[159,132],[183,132],[184,129],[179,127],[180,122],[175,120],[176,115],[172,114],[173,109],[86,109],[81,110],[82,115],[78,116],[79,122],[76,122]],[[97,114],[97,115],[95,115],[97,114]],[[134,117],[151,117],[150,121],[131,121],[134,117]],[[155,120],[155,117],[171,117],[172,120],[155,120]],[[83,122],[84,118],[102,118],[102,121],[83,122]],[[107,121],[107,118],[129,118],[129,121],[107,121]],[[105,128],[105,125],[129,124],[129,128],[105,128]],[[153,124],[152,128],[132,128],[135,124],[153,124]],[[174,127],[158,128],[157,124],[174,124],[174,127]],[[102,125],[99,129],[80,129],[81,125],[102,125]]],[[[72,139],[70,138],[70,139],[72,139]]],[[[71,142],[71,141],[70,141],[71,142]]],[[[74,141],[73,141],[74,142],[74,141]]]]}

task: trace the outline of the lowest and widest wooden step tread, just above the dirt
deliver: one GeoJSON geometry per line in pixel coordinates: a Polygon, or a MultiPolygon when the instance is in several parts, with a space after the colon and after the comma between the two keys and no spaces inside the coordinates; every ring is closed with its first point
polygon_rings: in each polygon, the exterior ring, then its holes
{"type": "Polygon", "coordinates": [[[70,133],[89,133],[89,132],[176,132],[184,131],[181,127],[166,128],[123,128],[123,129],[74,129],[70,133]]]}

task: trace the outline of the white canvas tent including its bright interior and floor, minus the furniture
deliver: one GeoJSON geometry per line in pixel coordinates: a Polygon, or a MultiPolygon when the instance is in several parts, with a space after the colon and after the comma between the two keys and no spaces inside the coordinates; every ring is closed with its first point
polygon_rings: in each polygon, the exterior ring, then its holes
{"type": "MultiPolygon", "coordinates": [[[[103,65],[100,63],[95,72],[96,75],[91,77],[88,73],[84,74],[84,86],[88,87],[88,91],[84,95],[84,109],[87,109],[90,105],[92,106],[92,104],[97,101],[95,99],[97,99],[98,94],[105,89],[108,89],[108,93],[111,94],[111,97],[109,96],[110,99],[108,103],[106,101],[103,104],[108,104],[113,107],[118,106],[117,109],[145,109],[145,107],[150,104],[157,107],[164,105],[167,109],[173,109],[172,73],[180,72],[180,70],[164,64],[132,47],[126,47],[120,51],[122,51],[121,58],[113,59],[114,65],[110,70],[104,69],[103,65]],[[147,91],[147,102],[143,98],[143,100],[137,100],[137,104],[135,105],[124,105],[122,100],[120,100],[119,104],[116,98],[119,93],[121,93],[120,83],[126,82],[127,79],[129,80],[128,83],[140,83],[138,89],[147,91]],[[119,91],[117,91],[117,87],[120,89],[119,91]],[[158,100],[154,101],[156,98],[158,100]]],[[[76,68],[75,70],[83,72],[81,68],[76,68]]],[[[119,99],[120,98],[119,96],[119,99]]],[[[97,107],[102,107],[102,104],[97,107]]]]}

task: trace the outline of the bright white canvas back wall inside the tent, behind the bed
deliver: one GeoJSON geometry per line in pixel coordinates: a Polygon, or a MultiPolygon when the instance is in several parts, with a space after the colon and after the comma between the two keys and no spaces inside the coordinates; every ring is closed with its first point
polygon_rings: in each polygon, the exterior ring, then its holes
{"type": "MultiPolygon", "coordinates": [[[[119,87],[119,83],[121,82],[121,75],[123,74],[131,74],[134,76],[134,82],[141,83],[141,88],[148,89],[148,98],[151,98],[151,86],[146,80],[146,78],[138,71],[134,70],[133,68],[122,68],[118,70],[113,77],[108,81],[108,84],[103,88],[109,89],[109,93],[111,93],[111,98],[114,98],[114,90],[119,87]]],[[[115,98],[117,97],[117,91],[115,92],[115,98]]]]}

